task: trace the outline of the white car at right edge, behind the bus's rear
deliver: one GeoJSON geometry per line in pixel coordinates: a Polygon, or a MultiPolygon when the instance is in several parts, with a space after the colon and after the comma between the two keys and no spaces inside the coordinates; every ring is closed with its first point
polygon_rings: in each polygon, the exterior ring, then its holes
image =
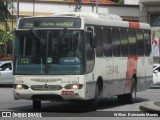
{"type": "Polygon", "coordinates": [[[153,65],[153,86],[160,87],[160,64],[153,65]]]}

